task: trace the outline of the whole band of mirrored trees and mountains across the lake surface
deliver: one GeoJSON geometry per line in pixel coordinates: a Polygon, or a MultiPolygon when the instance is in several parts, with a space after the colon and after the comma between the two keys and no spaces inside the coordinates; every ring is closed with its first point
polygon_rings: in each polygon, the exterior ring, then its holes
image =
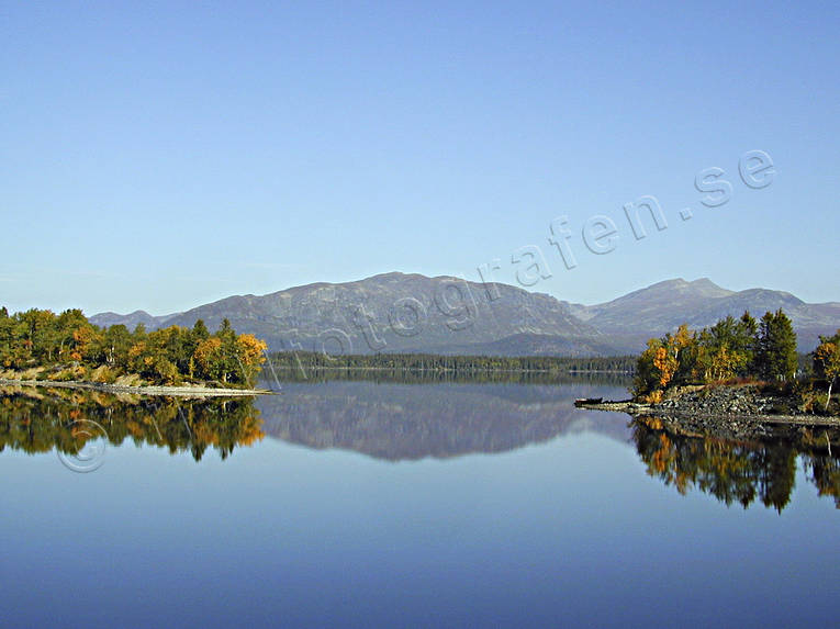
{"type": "MultiPolygon", "coordinates": [[[[511,452],[589,431],[635,445],[647,473],[685,495],[726,505],[762,504],[782,512],[797,464],[821,496],[840,508],[840,459],[822,433],[798,440],[733,441],[674,434],[656,418],[574,407],[576,397],[620,397],[616,384],[394,383],[333,380],[285,383],[282,394],[183,400],[90,391],[0,390],[0,452],[77,456],[103,435],[200,461],[221,459],[270,436],[311,449],[339,449],[384,461],[511,452]],[[92,423],[92,424],[91,424],[92,423]]],[[[837,435],[831,441],[837,443],[837,435]]]]}

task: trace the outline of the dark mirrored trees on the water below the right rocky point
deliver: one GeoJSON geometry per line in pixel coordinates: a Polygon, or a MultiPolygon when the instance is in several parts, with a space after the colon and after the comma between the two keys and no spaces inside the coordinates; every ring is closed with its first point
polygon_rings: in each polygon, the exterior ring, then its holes
{"type": "Polygon", "coordinates": [[[747,508],[760,502],[782,513],[791,501],[799,458],[819,495],[833,497],[840,508],[840,459],[816,435],[732,441],[676,435],[660,419],[642,417],[632,423],[632,438],[648,474],[681,494],[696,488],[727,505],[747,508]]]}

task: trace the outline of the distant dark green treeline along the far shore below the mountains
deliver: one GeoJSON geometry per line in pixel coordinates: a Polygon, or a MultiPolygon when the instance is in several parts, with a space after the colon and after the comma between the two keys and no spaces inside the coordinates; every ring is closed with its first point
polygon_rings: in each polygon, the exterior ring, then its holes
{"type": "Polygon", "coordinates": [[[271,356],[276,369],[284,377],[291,372],[326,372],[331,370],[388,370],[408,373],[481,374],[503,372],[545,373],[555,377],[568,373],[631,374],[636,358],[564,358],[555,356],[444,356],[434,353],[327,355],[313,351],[281,351],[271,356]]]}

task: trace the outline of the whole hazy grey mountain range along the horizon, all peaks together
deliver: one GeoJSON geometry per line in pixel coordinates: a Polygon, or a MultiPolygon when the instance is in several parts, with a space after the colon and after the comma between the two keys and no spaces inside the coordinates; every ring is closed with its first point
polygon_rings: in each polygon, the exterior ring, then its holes
{"type": "Polygon", "coordinates": [[[508,284],[399,272],[235,295],[164,316],[109,312],[90,321],[130,328],[143,324],[150,330],[192,326],[199,318],[214,329],[227,318],[237,332],[265,339],[271,350],[609,356],[636,353],[648,338],[683,323],[701,328],[727,315],[750,311],[760,317],[780,307],[793,319],[802,351],[814,349],[819,335],[840,328],[840,303],[808,304],[766,289],[729,291],[706,278],[668,280],[583,305],[508,284]]]}

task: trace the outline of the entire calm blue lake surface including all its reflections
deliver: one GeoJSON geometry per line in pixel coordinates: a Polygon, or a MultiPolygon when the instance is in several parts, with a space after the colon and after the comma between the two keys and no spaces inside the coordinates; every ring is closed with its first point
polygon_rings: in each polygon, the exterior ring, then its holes
{"type": "Polygon", "coordinates": [[[0,397],[4,627],[829,626],[840,461],[618,383],[0,397]],[[107,439],[100,438],[100,433],[107,439]]]}

